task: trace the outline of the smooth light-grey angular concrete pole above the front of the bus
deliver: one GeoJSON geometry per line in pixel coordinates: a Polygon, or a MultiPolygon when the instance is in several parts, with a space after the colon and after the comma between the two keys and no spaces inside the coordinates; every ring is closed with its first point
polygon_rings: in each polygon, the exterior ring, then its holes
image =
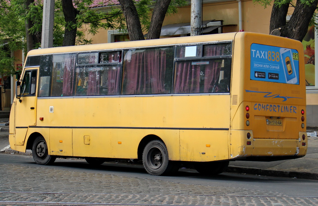
{"type": "Polygon", "coordinates": [[[53,47],[54,0],[44,0],[41,48],[53,47]]]}

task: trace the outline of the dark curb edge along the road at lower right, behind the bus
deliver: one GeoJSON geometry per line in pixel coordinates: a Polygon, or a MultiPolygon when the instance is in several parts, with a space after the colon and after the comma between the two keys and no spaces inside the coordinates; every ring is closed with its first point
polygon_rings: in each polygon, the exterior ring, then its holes
{"type": "Polygon", "coordinates": [[[272,176],[272,177],[289,177],[289,178],[318,180],[318,174],[316,173],[260,169],[260,168],[254,168],[254,167],[228,166],[225,172],[247,173],[247,174],[256,174],[256,175],[264,175],[264,176],[272,176]]]}

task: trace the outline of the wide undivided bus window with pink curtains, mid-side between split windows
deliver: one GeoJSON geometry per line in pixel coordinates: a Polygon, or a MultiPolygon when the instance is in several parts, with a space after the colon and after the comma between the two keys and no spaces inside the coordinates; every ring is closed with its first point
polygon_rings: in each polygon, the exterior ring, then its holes
{"type": "Polygon", "coordinates": [[[166,50],[148,49],[143,52],[128,51],[130,60],[124,62],[123,94],[164,94],[166,50]]]}

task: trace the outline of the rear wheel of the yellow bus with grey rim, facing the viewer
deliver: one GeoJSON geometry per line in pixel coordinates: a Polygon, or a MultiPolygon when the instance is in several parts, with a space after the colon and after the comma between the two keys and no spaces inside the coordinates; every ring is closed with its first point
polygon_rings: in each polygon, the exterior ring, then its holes
{"type": "Polygon", "coordinates": [[[161,140],[152,140],[144,148],[142,163],[151,175],[168,175],[179,170],[180,164],[170,161],[166,145],[161,140]]]}

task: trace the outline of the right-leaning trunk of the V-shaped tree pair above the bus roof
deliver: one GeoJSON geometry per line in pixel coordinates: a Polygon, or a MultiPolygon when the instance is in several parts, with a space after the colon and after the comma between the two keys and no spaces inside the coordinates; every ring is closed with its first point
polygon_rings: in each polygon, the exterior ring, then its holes
{"type": "Polygon", "coordinates": [[[152,12],[147,39],[159,39],[164,17],[171,0],[158,0],[152,12]]]}

